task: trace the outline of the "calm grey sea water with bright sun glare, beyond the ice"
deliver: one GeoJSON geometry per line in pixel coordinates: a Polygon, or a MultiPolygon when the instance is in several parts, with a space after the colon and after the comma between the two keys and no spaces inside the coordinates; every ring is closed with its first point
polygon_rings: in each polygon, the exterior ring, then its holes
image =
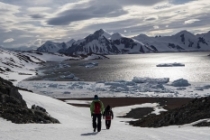
{"type": "Polygon", "coordinates": [[[184,78],[190,82],[209,82],[209,54],[210,52],[109,55],[110,59],[105,60],[68,61],[66,63],[71,67],[62,69],[59,74],[71,72],[84,81],[130,81],[136,76],[168,77],[170,81],[184,78]],[[98,62],[99,65],[93,68],[79,66],[86,62],[98,62]],[[158,64],[174,62],[183,63],[185,67],[156,67],[158,64]]]}

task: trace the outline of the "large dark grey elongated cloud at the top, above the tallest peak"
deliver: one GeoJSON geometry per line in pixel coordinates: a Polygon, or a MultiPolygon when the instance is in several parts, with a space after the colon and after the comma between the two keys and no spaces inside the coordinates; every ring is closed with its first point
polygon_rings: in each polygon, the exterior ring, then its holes
{"type": "MultiPolygon", "coordinates": [[[[123,10],[125,5],[151,6],[163,1],[166,0],[92,0],[83,3],[82,6],[86,5],[86,8],[75,8],[63,11],[56,17],[49,19],[47,23],[50,25],[68,25],[74,21],[82,21],[91,18],[117,17],[128,13],[123,10]]],[[[75,7],[81,7],[81,5],[77,4],[75,7]]]]}

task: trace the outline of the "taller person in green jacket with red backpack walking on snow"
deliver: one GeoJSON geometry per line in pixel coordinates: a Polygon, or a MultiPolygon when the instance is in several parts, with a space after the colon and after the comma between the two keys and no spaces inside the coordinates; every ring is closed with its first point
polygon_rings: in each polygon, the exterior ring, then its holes
{"type": "Polygon", "coordinates": [[[93,131],[96,131],[96,127],[98,132],[101,131],[101,115],[104,112],[104,104],[102,101],[99,100],[98,96],[94,96],[94,100],[90,104],[90,112],[92,116],[92,121],[93,121],[93,131]],[[96,120],[98,124],[96,124],[96,120]]]}

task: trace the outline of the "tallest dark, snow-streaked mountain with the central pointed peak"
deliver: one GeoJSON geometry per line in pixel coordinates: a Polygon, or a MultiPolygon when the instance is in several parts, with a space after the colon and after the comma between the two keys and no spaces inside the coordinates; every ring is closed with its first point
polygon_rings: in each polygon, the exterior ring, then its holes
{"type": "Polygon", "coordinates": [[[100,29],[84,39],[75,41],[72,46],[66,50],[60,50],[60,53],[69,55],[75,54],[124,54],[124,53],[145,53],[154,52],[153,48],[148,47],[131,38],[123,37],[119,33],[112,35],[100,29]]]}

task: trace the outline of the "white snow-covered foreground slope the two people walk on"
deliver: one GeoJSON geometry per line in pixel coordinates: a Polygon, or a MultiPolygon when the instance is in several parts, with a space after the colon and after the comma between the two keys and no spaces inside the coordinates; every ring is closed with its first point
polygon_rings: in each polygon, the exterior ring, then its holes
{"type": "MultiPolygon", "coordinates": [[[[209,128],[191,125],[170,126],[163,128],[140,128],[127,125],[126,120],[115,117],[110,130],[102,126],[100,133],[93,133],[89,108],[67,105],[51,97],[20,91],[30,107],[39,104],[61,124],[12,124],[0,119],[1,140],[209,140],[209,128]]],[[[115,116],[126,113],[127,108],[118,107],[115,116]]],[[[103,122],[104,124],[104,122],[103,122]]]]}

